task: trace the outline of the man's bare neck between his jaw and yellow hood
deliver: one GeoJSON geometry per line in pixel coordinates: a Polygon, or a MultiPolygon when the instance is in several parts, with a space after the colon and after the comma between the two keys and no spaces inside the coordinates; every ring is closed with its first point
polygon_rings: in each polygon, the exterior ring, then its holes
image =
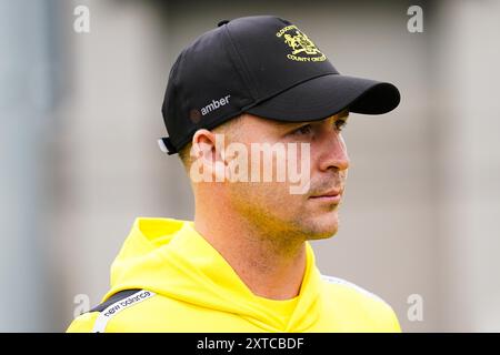
{"type": "Polygon", "coordinates": [[[238,215],[198,211],[194,229],[224,257],[250,291],[271,300],[296,297],[306,272],[306,243],[272,235],[238,215]]]}

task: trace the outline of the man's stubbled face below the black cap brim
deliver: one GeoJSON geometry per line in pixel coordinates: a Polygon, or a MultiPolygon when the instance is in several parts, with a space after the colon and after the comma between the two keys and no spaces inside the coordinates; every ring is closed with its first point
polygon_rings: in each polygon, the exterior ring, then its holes
{"type": "MultiPolygon", "coordinates": [[[[343,194],[349,158],[340,130],[346,124],[348,112],[341,112],[316,122],[278,122],[246,114],[236,134],[227,134],[226,145],[239,142],[247,146],[249,176],[252,165],[252,144],[264,146],[284,146],[284,156],[272,151],[272,180],[263,181],[263,155],[260,156],[261,179],[249,182],[228,182],[226,192],[228,203],[236,213],[240,213],[251,224],[272,234],[286,233],[306,240],[329,237],[338,230],[338,210],[343,194]],[[278,145],[276,145],[278,143],[278,145]],[[302,144],[304,143],[304,144],[302,144]],[[297,154],[288,154],[290,146],[296,145],[297,154]],[[309,145],[307,150],[301,146],[309,145]],[[286,181],[278,181],[279,162],[286,160],[286,181]],[[309,166],[306,164],[309,160],[309,166]],[[303,193],[291,193],[289,165],[297,164],[297,171],[309,168],[307,174],[310,185],[303,193]],[[340,196],[333,196],[340,194],[340,196]],[[339,199],[340,197],[340,199],[339,199]]],[[[231,161],[231,156],[226,156],[231,161]]],[[[282,162],[283,163],[283,162],[282,162]]],[[[307,173],[304,171],[302,174],[307,173]]],[[[297,181],[296,181],[297,182],[297,181]]]]}

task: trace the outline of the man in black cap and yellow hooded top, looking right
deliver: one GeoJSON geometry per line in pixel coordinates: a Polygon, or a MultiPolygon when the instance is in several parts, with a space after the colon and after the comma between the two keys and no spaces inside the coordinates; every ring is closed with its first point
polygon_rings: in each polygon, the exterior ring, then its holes
{"type": "Polygon", "coordinates": [[[138,217],[102,304],[68,331],[400,332],[381,298],[321,275],[308,242],[338,230],[349,112],[399,101],[286,20],[221,21],[178,57],[162,108],[194,221],[138,217]]]}

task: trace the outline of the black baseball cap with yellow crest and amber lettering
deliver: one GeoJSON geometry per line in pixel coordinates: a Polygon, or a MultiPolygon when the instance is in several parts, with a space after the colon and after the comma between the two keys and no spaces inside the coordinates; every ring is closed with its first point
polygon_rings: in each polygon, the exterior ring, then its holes
{"type": "Polygon", "coordinates": [[[177,58],[162,114],[178,153],[199,129],[248,112],[288,122],[323,120],[346,109],[382,114],[398,106],[388,82],[340,74],[327,55],[291,22],[274,16],[223,20],[177,58]]]}

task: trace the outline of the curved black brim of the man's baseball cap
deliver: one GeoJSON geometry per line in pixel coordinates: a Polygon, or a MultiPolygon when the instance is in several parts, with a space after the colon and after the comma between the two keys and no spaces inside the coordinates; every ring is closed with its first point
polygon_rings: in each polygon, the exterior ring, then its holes
{"type": "Polygon", "coordinates": [[[388,82],[328,74],[302,82],[246,110],[278,121],[314,121],[346,109],[353,113],[382,114],[400,102],[398,89],[388,82]]]}

